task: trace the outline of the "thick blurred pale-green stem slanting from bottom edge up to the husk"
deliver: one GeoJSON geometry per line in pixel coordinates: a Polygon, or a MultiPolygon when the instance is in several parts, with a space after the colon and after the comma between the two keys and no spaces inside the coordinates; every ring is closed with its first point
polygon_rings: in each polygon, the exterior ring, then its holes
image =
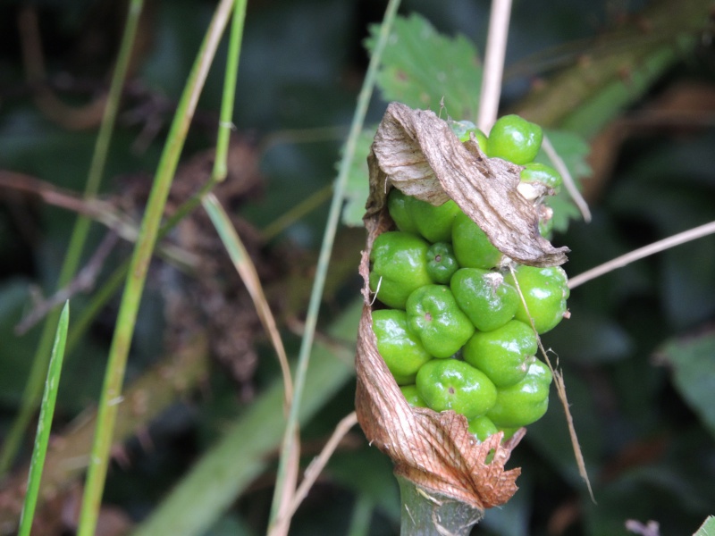
{"type": "MultiPolygon", "coordinates": [[[[360,298],[332,323],[328,334],[333,339],[354,343],[362,309],[360,298]]],[[[354,355],[354,346],[336,349],[335,345],[328,346],[324,341],[315,343],[314,366],[307,373],[306,396],[300,405],[301,423],[306,423],[352,378],[354,355]]],[[[204,534],[268,467],[270,453],[279,447],[285,425],[283,396],[282,382],[274,381],[231,424],[223,439],[201,457],[132,536],[204,534]]]]}

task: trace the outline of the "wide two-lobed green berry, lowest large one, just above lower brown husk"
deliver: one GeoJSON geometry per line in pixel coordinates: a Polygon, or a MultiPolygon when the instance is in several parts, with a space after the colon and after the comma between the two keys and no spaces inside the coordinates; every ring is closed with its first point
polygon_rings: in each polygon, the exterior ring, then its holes
{"type": "Polygon", "coordinates": [[[417,391],[434,411],[448,409],[474,419],[494,405],[497,389],[484,373],[457,359],[433,359],[419,369],[417,391]]]}

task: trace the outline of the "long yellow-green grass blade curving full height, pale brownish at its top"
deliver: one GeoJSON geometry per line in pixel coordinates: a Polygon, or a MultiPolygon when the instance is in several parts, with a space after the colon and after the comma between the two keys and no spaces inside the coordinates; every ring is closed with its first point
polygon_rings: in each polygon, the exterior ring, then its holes
{"type": "Polygon", "coordinates": [[[139,301],[146,281],[148,264],[156,245],[159,223],[164,214],[164,205],[176,166],[179,163],[181,148],[189,130],[191,117],[196,110],[198,96],[206,81],[206,75],[213,62],[216,48],[232,7],[232,0],[223,0],[216,7],[214,17],[206,32],[206,37],[199,48],[197,60],[191,69],[189,80],[187,80],[186,87],[181,95],[181,100],[156,170],[154,185],[149,194],[147,211],[141,223],[139,239],[136,247],[134,247],[129,276],[122,294],[114,337],[109,350],[105,382],[97,408],[97,431],[92,446],[92,454],[89,458],[87,482],[82,498],[79,536],[91,536],[97,526],[97,516],[109,465],[117,404],[122,400],[124,370],[137,320],[139,301]]]}

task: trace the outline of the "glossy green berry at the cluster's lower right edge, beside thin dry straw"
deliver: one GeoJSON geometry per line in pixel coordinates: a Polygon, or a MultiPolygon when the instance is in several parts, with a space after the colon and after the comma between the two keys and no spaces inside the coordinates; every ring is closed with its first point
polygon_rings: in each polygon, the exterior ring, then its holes
{"type": "Polygon", "coordinates": [[[549,407],[550,384],[549,367],[534,357],[522,381],[497,389],[496,402],[486,415],[499,428],[517,428],[534,423],[543,417],[549,407]]]}

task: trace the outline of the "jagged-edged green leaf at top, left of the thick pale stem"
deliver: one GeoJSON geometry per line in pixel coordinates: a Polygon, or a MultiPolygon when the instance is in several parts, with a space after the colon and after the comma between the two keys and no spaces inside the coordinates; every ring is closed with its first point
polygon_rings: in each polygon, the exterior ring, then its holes
{"type": "MultiPolygon", "coordinates": [[[[372,53],[379,25],[366,40],[372,53]]],[[[416,13],[395,21],[377,75],[383,98],[413,108],[442,112],[452,119],[475,121],[482,86],[482,65],[474,43],[448,38],[416,13]]]]}

